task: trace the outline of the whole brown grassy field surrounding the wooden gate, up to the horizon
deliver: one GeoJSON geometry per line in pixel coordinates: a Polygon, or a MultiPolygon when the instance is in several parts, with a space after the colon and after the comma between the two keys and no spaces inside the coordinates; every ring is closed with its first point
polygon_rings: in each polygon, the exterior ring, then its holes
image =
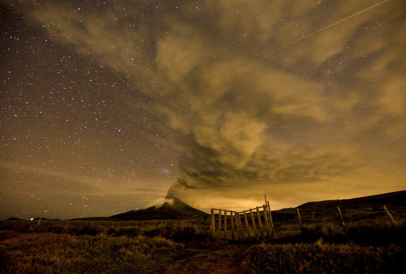
{"type": "Polygon", "coordinates": [[[405,224],[276,222],[275,237],[210,239],[207,220],[1,221],[0,273],[404,273],[405,224]],[[155,225],[154,225],[155,223],[155,225]]]}

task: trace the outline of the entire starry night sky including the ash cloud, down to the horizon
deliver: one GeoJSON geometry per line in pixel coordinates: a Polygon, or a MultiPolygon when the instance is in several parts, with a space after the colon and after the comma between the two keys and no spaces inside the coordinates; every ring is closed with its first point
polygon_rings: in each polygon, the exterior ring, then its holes
{"type": "Polygon", "coordinates": [[[0,219],[406,189],[405,1],[339,22],[380,2],[2,1],[0,219]]]}

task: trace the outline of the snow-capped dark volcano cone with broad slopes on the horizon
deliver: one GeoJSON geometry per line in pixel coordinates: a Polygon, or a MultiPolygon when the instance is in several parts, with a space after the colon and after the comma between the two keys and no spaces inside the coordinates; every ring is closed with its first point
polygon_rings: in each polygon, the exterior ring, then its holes
{"type": "Polygon", "coordinates": [[[72,220],[158,220],[158,219],[185,219],[190,217],[205,217],[209,214],[195,209],[173,195],[166,195],[147,204],[142,209],[112,215],[110,217],[88,217],[72,220]]]}

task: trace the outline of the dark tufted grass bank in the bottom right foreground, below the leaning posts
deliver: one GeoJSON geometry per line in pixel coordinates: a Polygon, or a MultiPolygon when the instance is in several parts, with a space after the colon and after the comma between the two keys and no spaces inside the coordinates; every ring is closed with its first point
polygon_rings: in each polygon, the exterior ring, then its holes
{"type": "Polygon", "coordinates": [[[249,248],[246,273],[404,273],[405,250],[398,245],[261,244],[249,248]]]}

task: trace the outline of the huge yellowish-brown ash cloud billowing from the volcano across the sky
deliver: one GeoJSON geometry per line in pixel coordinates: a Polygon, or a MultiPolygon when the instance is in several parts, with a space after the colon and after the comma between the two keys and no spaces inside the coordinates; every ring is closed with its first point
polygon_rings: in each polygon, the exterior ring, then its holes
{"type": "Polygon", "coordinates": [[[127,109],[129,130],[157,133],[151,161],[176,156],[171,194],[201,208],[241,208],[264,193],[277,207],[406,186],[402,2],[284,47],[377,3],[128,1],[92,11],[59,2],[17,10],[54,43],[122,77],[125,88],[109,98],[127,109]],[[371,176],[387,170],[397,170],[391,183],[371,176]]]}

